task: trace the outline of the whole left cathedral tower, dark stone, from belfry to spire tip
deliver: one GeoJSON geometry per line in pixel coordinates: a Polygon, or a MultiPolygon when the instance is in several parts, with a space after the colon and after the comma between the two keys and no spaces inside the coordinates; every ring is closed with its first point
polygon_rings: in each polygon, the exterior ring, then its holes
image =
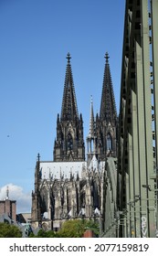
{"type": "Polygon", "coordinates": [[[82,115],[78,113],[75,88],[70,65],[70,54],[65,76],[61,114],[57,119],[57,139],[54,144],[55,162],[85,160],[82,115]]]}

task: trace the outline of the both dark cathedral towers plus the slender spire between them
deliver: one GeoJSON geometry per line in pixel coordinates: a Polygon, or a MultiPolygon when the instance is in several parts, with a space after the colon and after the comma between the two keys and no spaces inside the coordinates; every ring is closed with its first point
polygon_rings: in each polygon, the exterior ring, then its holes
{"type": "MultiPolygon", "coordinates": [[[[57,122],[57,139],[54,146],[54,161],[84,161],[85,145],[83,139],[83,121],[78,113],[75,88],[70,64],[70,54],[64,83],[61,114],[57,122]]],[[[90,102],[90,132],[87,137],[88,157],[97,155],[104,160],[107,151],[116,155],[116,123],[117,112],[111,82],[109,55],[105,54],[105,69],[100,102],[100,117],[94,120],[93,102],[90,102]],[[110,127],[111,124],[111,127],[110,127]],[[108,128],[109,127],[109,128],[108,128]]]]}

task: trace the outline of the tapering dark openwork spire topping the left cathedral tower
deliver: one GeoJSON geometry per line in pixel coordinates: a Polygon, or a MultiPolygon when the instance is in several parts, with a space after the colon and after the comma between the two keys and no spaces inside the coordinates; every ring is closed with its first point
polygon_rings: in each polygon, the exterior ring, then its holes
{"type": "Polygon", "coordinates": [[[73,84],[72,70],[70,65],[70,54],[67,55],[68,63],[64,84],[64,94],[62,100],[61,120],[76,120],[79,117],[73,84]]]}

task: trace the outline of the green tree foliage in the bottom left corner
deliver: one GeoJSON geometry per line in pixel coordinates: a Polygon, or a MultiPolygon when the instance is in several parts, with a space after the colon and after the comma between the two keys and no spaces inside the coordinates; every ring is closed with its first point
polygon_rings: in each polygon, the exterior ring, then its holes
{"type": "Polygon", "coordinates": [[[0,223],[0,238],[21,238],[22,232],[14,225],[0,223]]]}

